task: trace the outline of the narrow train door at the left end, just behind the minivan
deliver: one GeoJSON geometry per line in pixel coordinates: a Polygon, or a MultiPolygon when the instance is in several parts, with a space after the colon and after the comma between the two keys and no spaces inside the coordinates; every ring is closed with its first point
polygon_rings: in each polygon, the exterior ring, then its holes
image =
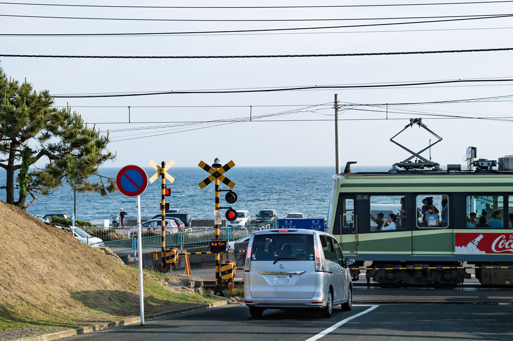
{"type": "Polygon", "coordinates": [[[354,212],[354,195],[340,194],[331,234],[345,254],[358,253],[358,215],[354,212]]]}

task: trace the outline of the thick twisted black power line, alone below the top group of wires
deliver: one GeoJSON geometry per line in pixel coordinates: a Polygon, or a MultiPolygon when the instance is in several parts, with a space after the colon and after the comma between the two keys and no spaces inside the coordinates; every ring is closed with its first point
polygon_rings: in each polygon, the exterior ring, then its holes
{"type": "Polygon", "coordinates": [[[319,53],[319,54],[260,54],[260,55],[227,55],[227,56],[87,56],[87,55],[53,55],[53,54],[0,54],[0,57],[24,58],[94,58],[94,59],[230,59],[230,58],[304,58],[304,57],[357,57],[386,56],[404,54],[435,54],[435,53],[467,53],[511,51],[513,48],[466,49],[466,50],[435,50],[435,51],[399,51],[399,52],[361,52],[361,53],[319,53]]]}

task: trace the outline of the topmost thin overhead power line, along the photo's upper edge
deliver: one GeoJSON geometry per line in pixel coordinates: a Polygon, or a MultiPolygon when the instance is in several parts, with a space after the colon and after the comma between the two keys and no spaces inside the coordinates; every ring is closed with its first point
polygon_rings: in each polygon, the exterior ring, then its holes
{"type": "Polygon", "coordinates": [[[62,6],[62,7],[107,7],[107,8],[186,8],[186,9],[244,9],[244,8],[336,8],[336,7],[400,7],[400,6],[439,6],[439,5],[472,5],[472,4],[498,4],[511,3],[513,0],[500,1],[467,1],[467,2],[440,2],[422,4],[369,4],[369,5],[311,5],[311,6],[126,6],[126,5],[81,5],[81,4],[33,4],[0,2],[6,5],[32,5],[32,6],[62,6]]]}

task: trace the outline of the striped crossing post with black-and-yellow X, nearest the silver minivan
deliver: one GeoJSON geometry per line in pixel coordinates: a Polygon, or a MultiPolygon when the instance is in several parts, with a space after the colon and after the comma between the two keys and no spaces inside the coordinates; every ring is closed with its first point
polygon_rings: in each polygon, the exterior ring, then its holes
{"type": "MultiPolygon", "coordinates": [[[[219,226],[222,224],[222,221],[219,220],[219,216],[221,215],[221,207],[219,205],[219,192],[221,191],[219,189],[219,181],[221,180],[225,185],[227,185],[230,188],[233,188],[235,186],[235,183],[225,177],[223,174],[227,172],[231,167],[233,167],[235,163],[233,161],[228,162],[224,166],[221,167],[221,162],[218,158],[215,158],[214,163],[212,164],[212,167],[210,167],[205,162],[201,161],[198,166],[203,168],[206,172],[210,174],[208,178],[200,182],[198,185],[201,189],[205,188],[209,183],[214,181],[215,183],[215,208],[214,208],[214,228],[215,228],[215,240],[210,241],[210,249],[212,250],[212,247],[219,247],[219,236],[220,236],[220,230],[219,226]],[[217,242],[217,243],[216,243],[217,242]],[[215,244],[215,245],[214,245],[215,244]]],[[[226,208],[226,207],[224,207],[226,208]]],[[[226,249],[226,241],[224,241],[224,247],[226,249]]],[[[222,246],[221,246],[222,248],[222,246]]],[[[223,249],[223,251],[225,250],[223,249]]],[[[216,252],[215,253],[215,294],[223,296],[223,291],[221,290],[221,279],[219,277],[219,252],[221,251],[211,251],[216,252]]]]}

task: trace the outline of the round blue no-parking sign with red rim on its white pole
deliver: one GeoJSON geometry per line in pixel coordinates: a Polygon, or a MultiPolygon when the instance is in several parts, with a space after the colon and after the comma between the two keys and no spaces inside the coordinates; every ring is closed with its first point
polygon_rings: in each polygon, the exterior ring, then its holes
{"type": "Polygon", "coordinates": [[[116,176],[117,189],[127,197],[137,197],[137,252],[139,253],[139,305],[141,307],[141,326],[144,326],[143,294],[143,251],[141,246],[141,199],[140,195],[148,186],[148,176],[143,168],[128,165],[121,168],[116,176]]]}

